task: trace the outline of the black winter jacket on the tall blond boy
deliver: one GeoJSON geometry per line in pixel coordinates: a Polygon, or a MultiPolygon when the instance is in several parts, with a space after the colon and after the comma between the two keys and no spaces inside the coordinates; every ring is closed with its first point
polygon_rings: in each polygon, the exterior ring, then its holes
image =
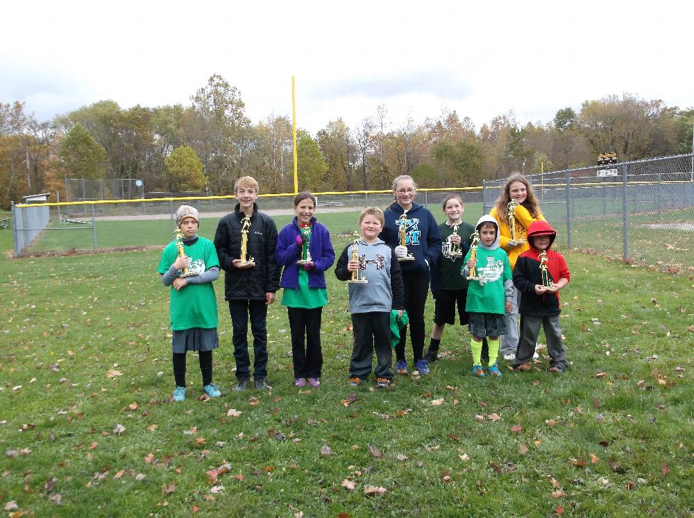
{"type": "Polygon", "coordinates": [[[248,229],[248,254],[255,266],[239,270],[232,261],[241,259],[241,221],[245,217],[237,204],[217,225],[214,248],[217,248],[219,265],[224,274],[225,300],[265,300],[265,293],[275,293],[280,288],[280,267],[275,261],[277,227],[267,214],[258,211],[253,204],[251,228],[248,229]]]}

